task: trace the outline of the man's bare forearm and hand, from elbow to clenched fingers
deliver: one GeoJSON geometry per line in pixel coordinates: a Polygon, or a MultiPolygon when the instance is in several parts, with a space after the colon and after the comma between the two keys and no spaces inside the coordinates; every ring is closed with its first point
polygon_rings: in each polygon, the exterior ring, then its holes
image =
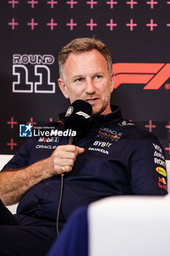
{"type": "Polygon", "coordinates": [[[24,167],[20,170],[6,170],[0,173],[0,198],[4,205],[18,203],[28,189],[35,184],[62,173],[62,167],[70,172],[74,166],[77,154],[82,154],[84,148],[74,145],[58,146],[51,157],[24,167]]]}

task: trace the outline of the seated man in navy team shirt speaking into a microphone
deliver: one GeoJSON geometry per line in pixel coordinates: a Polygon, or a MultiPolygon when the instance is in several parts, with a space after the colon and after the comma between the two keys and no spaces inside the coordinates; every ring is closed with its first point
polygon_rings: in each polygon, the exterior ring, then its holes
{"type": "MultiPolygon", "coordinates": [[[[67,99],[90,103],[93,118],[75,145],[68,138],[28,140],[0,173],[0,254],[45,255],[80,206],[112,195],[166,195],[163,148],[155,135],[123,119],[110,105],[112,59],[103,42],[74,39],[61,49],[58,85],[67,99]],[[3,203],[2,203],[3,202],[3,203]],[[14,216],[4,205],[18,203],[14,216]]],[[[53,127],[64,130],[64,116],[53,127]]]]}

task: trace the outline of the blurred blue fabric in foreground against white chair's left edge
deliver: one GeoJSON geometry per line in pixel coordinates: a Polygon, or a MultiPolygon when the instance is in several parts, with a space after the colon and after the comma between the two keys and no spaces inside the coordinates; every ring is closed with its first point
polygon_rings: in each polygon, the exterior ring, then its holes
{"type": "Polygon", "coordinates": [[[72,214],[47,256],[88,256],[87,208],[72,214]]]}

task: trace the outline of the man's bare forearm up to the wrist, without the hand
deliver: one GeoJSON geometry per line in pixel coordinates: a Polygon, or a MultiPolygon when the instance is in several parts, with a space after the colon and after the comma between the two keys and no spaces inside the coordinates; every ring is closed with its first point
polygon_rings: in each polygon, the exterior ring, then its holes
{"type": "Polygon", "coordinates": [[[50,178],[50,159],[43,159],[20,170],[0,173],[0,198],[4,205],[18,203],[28,189],[45,178],[50,178]]]}

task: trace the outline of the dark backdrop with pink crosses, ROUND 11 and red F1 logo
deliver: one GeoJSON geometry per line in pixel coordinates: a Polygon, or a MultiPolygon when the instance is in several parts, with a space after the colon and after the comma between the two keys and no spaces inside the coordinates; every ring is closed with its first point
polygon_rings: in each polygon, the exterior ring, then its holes
{"type": "Polygon", "coordinates": [[[112,104],[158,136],[170,159],[170,1],[1,1],[0,154],[15,154],[19,124],[58,120],[69,101],[58,89],[58,52],[96,37],[112,53],[112,104]]]}

